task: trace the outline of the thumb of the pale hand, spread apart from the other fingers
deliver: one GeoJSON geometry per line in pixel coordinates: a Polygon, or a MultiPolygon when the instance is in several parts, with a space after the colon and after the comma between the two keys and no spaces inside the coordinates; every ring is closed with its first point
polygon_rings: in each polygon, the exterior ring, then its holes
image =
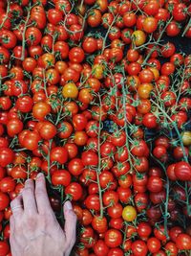
{"type": "Polygon", "coordinates": [[[64,230],[67,244],[67,251],[65,253],[65,256],[68,256],[70,255],[70,252],[75,243],[77,221],[76,215],[74,214],[73,205],[69,200],[64,203],[64,219],[64,230]]]}

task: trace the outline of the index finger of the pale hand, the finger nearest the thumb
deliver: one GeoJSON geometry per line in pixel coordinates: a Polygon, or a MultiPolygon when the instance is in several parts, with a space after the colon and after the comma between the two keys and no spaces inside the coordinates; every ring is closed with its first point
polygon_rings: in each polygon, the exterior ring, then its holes
{"type": "Polygon", "coordinates": [[[35,199],[39,214],[47,214],[48,211],[53,213],[51,203],[47,194],[45,176],[38,174],[35,181],[35,199]]]}

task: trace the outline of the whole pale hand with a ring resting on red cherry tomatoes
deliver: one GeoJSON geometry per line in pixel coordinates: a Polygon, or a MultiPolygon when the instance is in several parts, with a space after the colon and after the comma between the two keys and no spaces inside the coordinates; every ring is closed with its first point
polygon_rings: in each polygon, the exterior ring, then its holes
{"type": "Polygon", "coordinates": [[[63,228],[53,214],[44,175],[35,186],[28,179],[22,193],[11,201],[12,256],[69,256],[75,243],[76,216],[70,201],[64,204],[63,228]]]}

